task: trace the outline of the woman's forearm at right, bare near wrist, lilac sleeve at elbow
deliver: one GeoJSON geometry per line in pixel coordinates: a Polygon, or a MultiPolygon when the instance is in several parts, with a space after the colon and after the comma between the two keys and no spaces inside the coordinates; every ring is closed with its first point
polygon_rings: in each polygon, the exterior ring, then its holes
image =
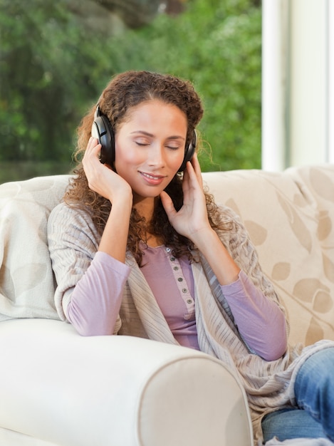
{"type": "Polygon", "coordinates": [[[196,234],[193,241],[221,284],[239,333],[249,348],[267,361],[282,356],[287,339],[286,319],[281,308],[241,271],[214,230],[196,234]]]}

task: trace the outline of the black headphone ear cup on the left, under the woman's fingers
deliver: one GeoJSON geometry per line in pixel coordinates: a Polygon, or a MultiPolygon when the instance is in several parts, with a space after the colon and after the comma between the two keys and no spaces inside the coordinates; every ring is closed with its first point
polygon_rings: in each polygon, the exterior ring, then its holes
{"type": "Polygon", "coordinates": [[[115,135],[106,116],[95,117],[92,125],[92,136],[97,138],[102,146],[100,162],[113,166],[115,162],[115,135]]]}

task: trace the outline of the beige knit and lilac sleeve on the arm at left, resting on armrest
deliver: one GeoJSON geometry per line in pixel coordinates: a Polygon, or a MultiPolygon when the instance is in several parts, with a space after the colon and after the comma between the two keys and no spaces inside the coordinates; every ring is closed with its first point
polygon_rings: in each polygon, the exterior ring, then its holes
{"type": "Polygon", "coordinates": [[[59,204],[48,219],[48,247],[56,277],[59,316],[82,335],[113,334],[130,268],[98,252],[100,235],[90,215],[59,204]]]}

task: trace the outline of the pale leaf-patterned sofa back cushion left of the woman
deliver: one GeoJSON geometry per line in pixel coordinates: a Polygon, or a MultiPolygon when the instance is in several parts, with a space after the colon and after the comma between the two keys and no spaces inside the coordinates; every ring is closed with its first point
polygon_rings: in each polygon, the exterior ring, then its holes
{"type": "Polygon", "coordinates": [[[0,321],[58,318],[46,223],[67,184],[56,175],[0,185],[0,321]]]}

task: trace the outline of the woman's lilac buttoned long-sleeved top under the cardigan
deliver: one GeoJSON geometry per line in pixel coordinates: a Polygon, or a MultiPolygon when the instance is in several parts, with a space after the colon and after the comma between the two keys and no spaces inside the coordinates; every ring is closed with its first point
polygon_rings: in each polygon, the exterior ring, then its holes
{"type": "MultiPolygon", "coordinates": [[[[176,259],[166,247],[145,247],[142,265],[157,304],[176,340],[199,349],[195,320],[192,268],[187,258],[176,259]]],[[[98,251],[78,281],[67,308],[67,317],[79,333],[113,333],[130,266],[98,251]],[[87,316],[89,315],[89,321],[87,316]]],[[[221,286],[239,333],[249,348],[263,358],[286,342],[285,318],[275,302],[254,286],[244,271],[233,284],[221,286]],[[281,336],[277,336],[281,333],[281,336]],[[270,348],[270,351],[269,351],[270,348]]],[[[283,346],[284,348],[284,346],[283,346]]]]}

